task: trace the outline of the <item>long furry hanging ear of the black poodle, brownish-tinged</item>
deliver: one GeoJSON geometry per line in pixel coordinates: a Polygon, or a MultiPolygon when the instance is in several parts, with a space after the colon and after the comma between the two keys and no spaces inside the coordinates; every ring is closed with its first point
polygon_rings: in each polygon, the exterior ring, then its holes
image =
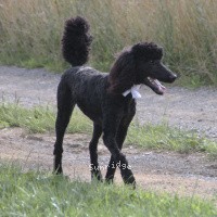
{"type": "Polygon", "coordinates": [[[136,81],[136,64],[132,53],[124,51],[111,68],[108,92],[120,94],[131,88],[136,81]]]}

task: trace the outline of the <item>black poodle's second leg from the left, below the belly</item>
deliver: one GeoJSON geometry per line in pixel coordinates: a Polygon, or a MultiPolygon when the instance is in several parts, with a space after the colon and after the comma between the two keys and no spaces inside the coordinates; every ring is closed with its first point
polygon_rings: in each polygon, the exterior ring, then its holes
{"type": "Polygon", "coordinates": [[[102,180],[102,175],[98,164],[98,142],[101,135],[102,135],[102,126],[100,126],[97,123],[93,123],[93,133],[89,144],[90,170],[91,170],[91,178],[92,179],[97,178],[98,180],[102,180]]]}

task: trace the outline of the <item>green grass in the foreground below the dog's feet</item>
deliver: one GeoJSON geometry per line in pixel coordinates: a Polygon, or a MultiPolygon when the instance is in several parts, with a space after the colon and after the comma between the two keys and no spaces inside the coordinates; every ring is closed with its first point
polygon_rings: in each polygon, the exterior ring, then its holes
{"type": "MultiPolygon", "coordinates": [[[[17,164],[16,164],[17,165],[17,164]]],[[[47,173],[23,173],[0,163],[0,216],[214,217],[217,207],[199,197],[71,181],[47,173]]]]}

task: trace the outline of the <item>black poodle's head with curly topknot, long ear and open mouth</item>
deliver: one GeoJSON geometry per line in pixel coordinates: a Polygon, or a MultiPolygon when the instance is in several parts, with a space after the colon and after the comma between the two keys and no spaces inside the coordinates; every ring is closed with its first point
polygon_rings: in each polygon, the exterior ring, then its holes
{"type": "Polygon", "coordinates": [[[177,76],[163,63],[163,48],[151,42],[137,43],[117,58],[110,74],[110,90],[122,93],[133,85],[146,85],[155,93],[164,94],[159,82],[174,82],[177,76]]]}

